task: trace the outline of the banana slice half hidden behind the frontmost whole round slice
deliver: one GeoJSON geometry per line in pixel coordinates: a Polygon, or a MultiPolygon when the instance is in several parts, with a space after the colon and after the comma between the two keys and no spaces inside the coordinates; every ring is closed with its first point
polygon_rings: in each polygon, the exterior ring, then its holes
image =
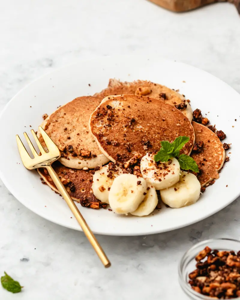
{"type": "Polygon", "coordinates": [[[151,184],[147,184],[147,194],[143,199],[143,202],[139,205],[139,207],[134,211],[131,212],[134,216],[143,217],[151,214],[152,211],[156,208],[158,204],[158,195],[151,184]]]}

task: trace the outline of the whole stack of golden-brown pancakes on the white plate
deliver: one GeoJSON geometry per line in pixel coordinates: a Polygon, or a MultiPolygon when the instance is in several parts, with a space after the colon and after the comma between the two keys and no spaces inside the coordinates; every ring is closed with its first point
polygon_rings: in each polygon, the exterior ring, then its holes
{"type": "MultiPolygon", "coordinates": [[[[135,153],[159,151],[163,140],[189,137],[181,153],[197,162],[201,185],[218,178],[225,159],[223,145],[216,134],[192,119],[189,100],[175,90],[150,81],[110,79],[106,89],[59,107],[41,126],[61,151],[52,167],[70,196],[83,206],[105,208],[107,204],[91,189],[95,168],[109,161],[124,164],[135,153]],[[199,141],[204,147],[193,153],[199,141]]],[[[44,144],[40,133],[38,137],[44,144]]],[[[58,192],[46,169],[38,173],[58,192]]]]}

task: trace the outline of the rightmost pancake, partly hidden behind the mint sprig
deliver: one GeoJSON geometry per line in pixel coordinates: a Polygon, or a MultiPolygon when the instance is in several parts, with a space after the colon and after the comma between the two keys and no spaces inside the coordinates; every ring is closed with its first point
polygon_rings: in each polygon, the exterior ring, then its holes
{"type": "Polygon", "coordinates": [[[191,153],[191,157],[199,166],[198,180],[201,185],[207,184],[219,177],[218,171],[223,166],[225,160],[225,150],[223,144],[216,134],[206,126],[192,122],[195,132],[195,143],[203,141],[203,150],[200,153],[191,153]]]}

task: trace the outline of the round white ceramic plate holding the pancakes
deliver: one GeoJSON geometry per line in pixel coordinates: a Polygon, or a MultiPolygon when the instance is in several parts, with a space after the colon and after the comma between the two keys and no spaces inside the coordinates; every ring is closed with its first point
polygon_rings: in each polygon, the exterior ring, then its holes
{"type": "Polygon", "coordinates": [[[211,124],[223,130],[232,143],[230,161],[215,184],[191,206],[165,206],[148,217],[118,216],[108,209],[93,210],[78,205],[90,228],[106,235],[146,235],[169,231],[202,220],[231,203],[240,194],[238,152],[240,149],[240,95],[220,79],[186,64],[157,57],[104,57],[56,70],[22,89],[7,104],[0,118],[0,175],[10,192],[27,208],[54,223],[81,230],[64,200],[41,184],[36,171],[26,170],[19,157],[15,135],[22,140],[30,125],[37,130],[44,113],[82,95],[107,87],[109,78],[132,81],[148,79],[180,89],[193,110],[207,113],[211,124]],[[185,81],[185,82],[183,82],[185,81]],[[88,84],[91,84],[89,86],[88,84]],[[209,112],[209,113],[208,113],[209,112]],[[237,121],[235,122],[235,119],[237,121]],[[234,127],[233,127],[234,126],[234,127]],[[228,185],[228,187],[226,187],[228,185]]]}

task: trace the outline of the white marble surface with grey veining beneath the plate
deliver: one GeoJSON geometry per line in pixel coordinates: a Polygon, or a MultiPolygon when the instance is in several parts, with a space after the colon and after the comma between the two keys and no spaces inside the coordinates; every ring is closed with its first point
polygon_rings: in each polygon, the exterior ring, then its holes
{"type": "MultiPolygon", "coordinates": [[[[116,53],[158,53],[202,68],[240,92],[239,36],[240,18],[228,3],[175,14],[146,0],[3,1],[0,110],[52,69],[116,53]]],[[[0,275],[5,270],[24,285],[16,295],[0,287],[4,300],[187,299],[177,281],[183,252],[206,238],[240,237],[238,199],[184,229],[98,236],[112,261],[104,269],[82,233],[38,217],[1,181],[0,194],[0,275]]]]}

